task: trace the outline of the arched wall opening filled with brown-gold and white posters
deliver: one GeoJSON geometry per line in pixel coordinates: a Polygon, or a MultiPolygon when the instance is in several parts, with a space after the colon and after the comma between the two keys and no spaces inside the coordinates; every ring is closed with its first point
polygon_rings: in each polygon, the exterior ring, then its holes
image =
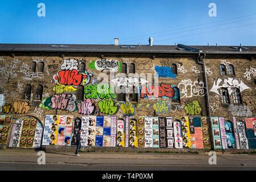
{"type": "Polygon", "coordinates": [[[9,147],[39,148],[43,125],[34,117],[23,117],[13,124],[9,147]]]}

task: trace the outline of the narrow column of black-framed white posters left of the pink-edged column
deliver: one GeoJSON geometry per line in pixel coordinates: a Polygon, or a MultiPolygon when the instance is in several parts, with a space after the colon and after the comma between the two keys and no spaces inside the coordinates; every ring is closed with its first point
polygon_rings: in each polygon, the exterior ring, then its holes
{"type": "Polygon", "coordinates": [[[166,119],[167,148],[173,148],[174,147],[173,118],[166,117],[165,119],[166,119]]]}

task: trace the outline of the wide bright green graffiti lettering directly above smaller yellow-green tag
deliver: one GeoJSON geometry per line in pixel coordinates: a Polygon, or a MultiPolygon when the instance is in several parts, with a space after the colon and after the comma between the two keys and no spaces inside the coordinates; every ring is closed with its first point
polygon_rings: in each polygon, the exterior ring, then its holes
{"type": "Polygon", "coordinates": [[[117,97],[113,92],[113,86],[108,84],[89,84],[84,88],[84,94],[86,98],[100,98],[101,100],[117,97]]]}

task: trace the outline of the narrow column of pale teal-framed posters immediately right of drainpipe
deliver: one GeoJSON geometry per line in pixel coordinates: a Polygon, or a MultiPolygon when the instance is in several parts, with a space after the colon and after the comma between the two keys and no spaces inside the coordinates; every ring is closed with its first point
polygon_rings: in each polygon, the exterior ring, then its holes
{"type": "Polygon", "coordinates": [[[218,117],[211,117],[212,133],[213,133],[213,147],[222,148],[221,131],[218,117]]]}

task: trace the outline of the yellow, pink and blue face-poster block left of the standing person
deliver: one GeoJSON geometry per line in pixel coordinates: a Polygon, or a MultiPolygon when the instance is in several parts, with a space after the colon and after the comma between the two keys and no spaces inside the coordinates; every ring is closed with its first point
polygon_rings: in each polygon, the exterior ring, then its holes
{"type": "Polygon", "coordinates": [[[72,115],[46,115],[42,144],[71,146],[73,119],[72,115]]]}

